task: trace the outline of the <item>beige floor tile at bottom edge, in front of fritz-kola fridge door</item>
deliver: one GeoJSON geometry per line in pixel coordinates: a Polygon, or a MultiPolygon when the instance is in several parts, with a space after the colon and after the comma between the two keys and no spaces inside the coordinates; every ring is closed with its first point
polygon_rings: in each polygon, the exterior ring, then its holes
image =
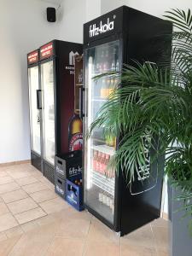
{"type": "MultiPolygon", "coordinates": [[[[119,246],[113,242],[87,241],[84,256],[119,256],[119,246]]],[[[131,255],[132,256],[132,255],[131,255]]]]}

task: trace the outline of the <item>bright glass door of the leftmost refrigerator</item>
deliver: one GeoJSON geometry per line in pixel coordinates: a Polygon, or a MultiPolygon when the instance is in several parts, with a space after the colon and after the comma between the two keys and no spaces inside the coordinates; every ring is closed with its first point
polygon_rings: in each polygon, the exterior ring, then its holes
{"type": "Polygon", "coordinates": [[[37,109],[38,67],[28,68],[29,106],[32,151],[41,154],[40,113],[37,109]]]}

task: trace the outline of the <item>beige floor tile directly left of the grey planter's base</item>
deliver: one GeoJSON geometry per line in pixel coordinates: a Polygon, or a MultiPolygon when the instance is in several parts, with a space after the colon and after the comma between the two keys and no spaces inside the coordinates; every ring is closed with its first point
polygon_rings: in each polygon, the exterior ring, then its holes
{"type": "Polygon", "coordinates": [[[154,233],[154,244],[157,249],[160,249],[162,252],[168,252],[168,229],[162,227],[153,227],[154,233]]]}

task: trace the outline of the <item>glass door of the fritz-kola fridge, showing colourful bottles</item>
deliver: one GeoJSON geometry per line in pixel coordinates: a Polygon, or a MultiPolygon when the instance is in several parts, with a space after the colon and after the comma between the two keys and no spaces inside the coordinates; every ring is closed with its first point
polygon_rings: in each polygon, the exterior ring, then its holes
{"type": "MultiPolygon", "coordinates": [[[[119,40],[86,49],[85,61],[86,133],[119,82],[114,76],[93,79],[100,73],[119,70],[119,40]]],[[[116,138],[105,137],[102,128],[95,129],[84,147],[85,204],[113,224],[115,170],[107,166],[116,148],[116,138]]]]}

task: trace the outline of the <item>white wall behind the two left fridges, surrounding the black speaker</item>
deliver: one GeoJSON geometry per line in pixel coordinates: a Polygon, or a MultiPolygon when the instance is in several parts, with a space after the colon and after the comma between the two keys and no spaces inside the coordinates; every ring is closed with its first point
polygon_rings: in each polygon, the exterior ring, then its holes
{"type": "Polygon", "coordinates": [[[0,0],[0,163],[30,158],[26,53],[55,38],[82,42],[85,1],[64,0],[55,23],[49,6],[0,0]]]}

